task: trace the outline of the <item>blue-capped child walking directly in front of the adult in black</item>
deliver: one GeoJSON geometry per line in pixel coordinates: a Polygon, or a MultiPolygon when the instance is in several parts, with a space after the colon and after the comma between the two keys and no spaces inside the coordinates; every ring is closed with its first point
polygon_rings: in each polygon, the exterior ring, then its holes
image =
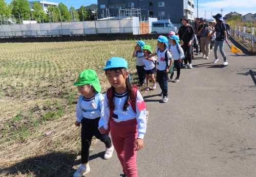
{"type": "MultiPolygon", "coordinates": [[[[181,46],[179,45],[179,37],[176,35],[172,35],[169,37],[170,39],[170,52],[172,52],[172,57],[174,60],[174,66],[177,69],[177,77],[174,82],[180,81],[180,69],[182,68],[182,59],[184,58],[184,52],[181,46]]],[[[172,80],[174,77],[174,71],[170,74],[170,79],[172,80]]]]}

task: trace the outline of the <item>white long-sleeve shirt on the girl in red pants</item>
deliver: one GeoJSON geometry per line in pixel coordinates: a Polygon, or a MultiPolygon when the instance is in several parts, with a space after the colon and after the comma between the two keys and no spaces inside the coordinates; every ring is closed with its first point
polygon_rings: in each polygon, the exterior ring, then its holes
{"type": "MultiPolygon", "coordinates": [[[[114,94],[114,105],[115,110],[113,112],[112,119],[116,122],[127,121],[136,118],[137,119],[137,130],[138,138],[143,139],[146,133],[146,109],[139,110],[138,104],[143,101],[143,97],[139,91],[137,91],[136,98],[136,112],[134,112],[132,106],[130,105],[126,111],[123,111],[123,105],[127,97],[127,91],[123,94],[114,94]]],[[[144,102],[144,101],[143,101],[144,102]]],[[[110,117],[110,108],[108,107],[109,101],[104,99],[103,108],[101,109],[101,115],[99,120],[99,128],[104,127],[105,130],[108,129],[108,122],[110,117]]]]}

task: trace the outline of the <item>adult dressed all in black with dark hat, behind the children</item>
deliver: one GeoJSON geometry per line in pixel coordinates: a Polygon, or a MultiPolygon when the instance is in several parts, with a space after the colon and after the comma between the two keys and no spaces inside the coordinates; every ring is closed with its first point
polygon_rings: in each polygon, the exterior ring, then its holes
{"type": "Polygon", "coordinates": [[[193,38],[194,38],[194,28],[188,24],[188,19],[185,17],[182,17],[181,22],[183,26],[179,29],[179,38],[181,41],[181,47],[185,53],[185,59],[184,59],[184,68],[192,69],[192,61],[191,61],[191,54],[192,54],[192,47],[193,47],[193,38]],[[188,62],[188,64],[187,64],[188,62]]]}

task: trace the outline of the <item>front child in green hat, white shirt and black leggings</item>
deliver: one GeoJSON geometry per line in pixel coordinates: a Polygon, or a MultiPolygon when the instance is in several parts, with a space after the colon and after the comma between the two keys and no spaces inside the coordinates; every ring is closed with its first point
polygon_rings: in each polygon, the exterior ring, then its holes
{"type": "Polygon", "coordinates": [[[101,86],[96,72],[92,69],[83,70],[74,85],[81,94],[76,105],[77,120],[75,122],[77,127],[81,124],[81,166],[73,176],[81,177],[90,171],[89,149],[93,136],[106,146],[104,159],[112,157],[114,146],[110,137],[101,134],[98,130],[104,95],[100,94],[101,86]]]}

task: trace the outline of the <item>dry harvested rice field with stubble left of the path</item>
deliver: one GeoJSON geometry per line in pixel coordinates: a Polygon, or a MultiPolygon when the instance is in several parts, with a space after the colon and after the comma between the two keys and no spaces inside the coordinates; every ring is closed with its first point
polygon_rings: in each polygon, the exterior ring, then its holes
{"type": "MultiPolygon", "coordinates": [[[[153,51],[156,40],[145,40],[153,51]]],[[[79,72],[125,58],[137,83],[136,40],[0,43],[0,176],[71,176],[80,159],[75,127],[79,72]]],[[[140,88],[141,90],[143,88],[140,88]]],[[[91,147],[93,148],[93,147],[91,147]]]]}

